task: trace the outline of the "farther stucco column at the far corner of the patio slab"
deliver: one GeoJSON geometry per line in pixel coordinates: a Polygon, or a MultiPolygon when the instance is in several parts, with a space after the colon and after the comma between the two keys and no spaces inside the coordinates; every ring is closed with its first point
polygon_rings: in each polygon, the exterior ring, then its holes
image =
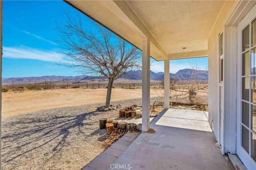
{"type": "Polygon", "coordinates": [[[170,60],[164,60],[164,109],[170,105],[170,60]]]}

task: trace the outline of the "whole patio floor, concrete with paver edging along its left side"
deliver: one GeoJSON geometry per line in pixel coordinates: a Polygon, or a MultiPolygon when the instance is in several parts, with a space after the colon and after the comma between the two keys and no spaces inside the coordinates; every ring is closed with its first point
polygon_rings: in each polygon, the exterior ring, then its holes
{"type": "Polygon", "coordinates": [[[129,143],[130,139],[131,136],[120,138],[118,148],[112,146],[112,152],[106,150],[104,157],[98,156],[84,170],[232,170],[216,143],[206,111],[165,109],[150,122],[148,132],[129,143]],[[120,150],[123,147],[126,149],[120,150]]]}

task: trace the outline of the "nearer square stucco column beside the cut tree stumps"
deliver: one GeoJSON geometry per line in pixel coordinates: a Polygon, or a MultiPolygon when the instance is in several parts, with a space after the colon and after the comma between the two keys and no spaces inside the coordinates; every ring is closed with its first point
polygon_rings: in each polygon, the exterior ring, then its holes
{"type": "Polygon", "coordinates": [[[142,131],[148,132],[150,118],[150,40],[142,40],[142,131]]]}

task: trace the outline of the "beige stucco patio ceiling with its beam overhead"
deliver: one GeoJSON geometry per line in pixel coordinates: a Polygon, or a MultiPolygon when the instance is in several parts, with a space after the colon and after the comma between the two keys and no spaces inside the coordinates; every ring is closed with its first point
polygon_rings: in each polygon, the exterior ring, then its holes
{"type": "Polygon", "coordinates": [[[140,49],[150,38],[156,60],[207,56],[208,36],[225,2],[68,0],[140,49]]]}

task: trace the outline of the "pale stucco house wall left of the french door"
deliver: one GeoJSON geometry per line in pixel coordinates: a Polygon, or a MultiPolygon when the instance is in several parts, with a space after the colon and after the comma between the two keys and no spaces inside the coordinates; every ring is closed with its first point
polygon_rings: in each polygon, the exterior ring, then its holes
{"type": "MultiPolygon", "coordinates": [[[[216,24],[214,25],[214,28],[212,29],[212,32],[210,33],[210,36],[208,38],[208,70],[209,70],[209,123],[212,126],[212,130],[214,131],[215,136],[218,139],[219,136],[219,34],[221,32],[224,32],[224,26],[230,18],[234,8],[236,7],[236,4],[238,1],[227,1],[225,5],[223,6],[217,20],[216,24]]],[[[224,36],[225,37],[225,36],[224,36]]],[[[224,44],[225,44],[225,38],[224,38],[224,44]]],[[[225,48],[225,47],[224,47],[225,48]]],[[[225,49],[224,49],[225,50],[225,49]]],[[[224,51],[225,53],[225,51],[224,51]]],[[[225,56],[224,56],[224,62],[225,56]]],[[[225,72],[224,68],[224,72],[225,72]]],[[[225,75],[224,75],[225,79],[225,75]]],[[[224,107],[225,111],[225,107],[224,107]]],[[[219,140],[219,139],[218,139],[219,140]]]]}

